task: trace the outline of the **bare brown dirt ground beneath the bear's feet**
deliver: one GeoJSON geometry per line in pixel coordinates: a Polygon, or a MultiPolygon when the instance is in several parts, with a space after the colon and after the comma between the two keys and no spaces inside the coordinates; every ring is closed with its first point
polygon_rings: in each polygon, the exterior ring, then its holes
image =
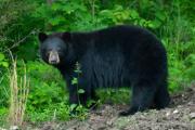
{"type": "Polygon", "coordinates": [[[195,130],[195,83],[172,95],[169,108],[118,117],[123,108],[128,106],[105,104],[91,112],[87,120],[47,122],[40,130],[195,130]]]}

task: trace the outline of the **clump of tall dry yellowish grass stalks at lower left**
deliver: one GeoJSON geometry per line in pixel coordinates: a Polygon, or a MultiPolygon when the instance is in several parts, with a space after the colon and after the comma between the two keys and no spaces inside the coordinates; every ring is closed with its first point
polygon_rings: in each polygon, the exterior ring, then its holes
{"type": "Polygon", "coordinates": [[[26,77],[26,67],[24,67],[24,76],[18,78],[16,60],[12,57],[12,69],[9,74],[10,79],[10,113],[9,126],[20,127],[23,125],[26,102],[29,92],[29,80],[26,77]],[[20,80],[20,81],[18,81],[20,80]]]}

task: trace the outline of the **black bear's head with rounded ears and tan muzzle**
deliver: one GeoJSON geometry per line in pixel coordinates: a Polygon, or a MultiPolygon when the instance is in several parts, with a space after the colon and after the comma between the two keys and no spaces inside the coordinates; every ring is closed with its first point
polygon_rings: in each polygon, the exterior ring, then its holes
{"type": "Polygon", "coordinates": [[[68,52],[68,41],[70,40],[69,32],[52,35],[40,32],[38,38],[40,41],[40,55],[46,63],[57,65],[65,60],[68,52]]]}

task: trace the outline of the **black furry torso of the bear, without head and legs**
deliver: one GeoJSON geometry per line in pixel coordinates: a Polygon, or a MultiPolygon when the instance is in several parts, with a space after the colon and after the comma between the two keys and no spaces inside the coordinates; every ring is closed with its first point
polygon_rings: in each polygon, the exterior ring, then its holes
{"type": "Polygon", "coordinates": [[[166,67],[162,44],[145,29],[115,26],[84,35],[91,40],[83,40],[88,50],[79,62],[93,87],[130,86],[130,80],[156,77],[166,67]]]}

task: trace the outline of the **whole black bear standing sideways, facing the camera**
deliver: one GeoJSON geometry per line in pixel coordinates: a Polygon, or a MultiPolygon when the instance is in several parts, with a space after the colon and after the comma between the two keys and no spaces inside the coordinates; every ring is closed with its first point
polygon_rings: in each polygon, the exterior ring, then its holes
{"type": "Polygon", "coordinates": [[[96,99],[95,89],[100,87],[131,87],[131,107],[120,115],[169,104],[166,50],[146,29],[119,25],[90,32],[40,32],[39,40],[42,60],[55,66],[66,80],[70,103],[96,99]],[[84,90],[80,94],[72,83],[77,76],[76,63],[81,70],[78,87],[84,90]]]}

